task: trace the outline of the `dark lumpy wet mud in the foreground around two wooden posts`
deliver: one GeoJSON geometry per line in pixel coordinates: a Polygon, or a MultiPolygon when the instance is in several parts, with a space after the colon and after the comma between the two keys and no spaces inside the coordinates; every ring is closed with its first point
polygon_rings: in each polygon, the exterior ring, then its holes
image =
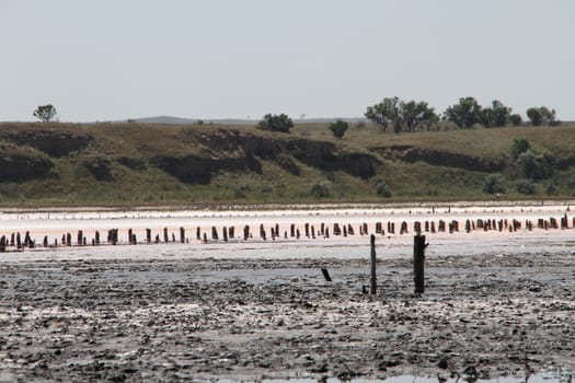
{"type": "Polygon", "coordinates": [[[0,381],[486,379],[575,369],[575,255],[0,263],[0,381]],[[327,267],[333,282],[320,271],[327,267]]]}

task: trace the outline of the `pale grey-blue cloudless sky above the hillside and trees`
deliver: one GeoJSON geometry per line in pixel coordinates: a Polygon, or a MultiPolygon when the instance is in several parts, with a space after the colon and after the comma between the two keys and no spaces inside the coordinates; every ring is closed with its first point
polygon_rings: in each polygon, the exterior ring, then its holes
{"type": "Polygon", "coordinates": [[[499,100],[575,120],[573,0],[0,0],[0,120],[360,117],[499,100]]]}

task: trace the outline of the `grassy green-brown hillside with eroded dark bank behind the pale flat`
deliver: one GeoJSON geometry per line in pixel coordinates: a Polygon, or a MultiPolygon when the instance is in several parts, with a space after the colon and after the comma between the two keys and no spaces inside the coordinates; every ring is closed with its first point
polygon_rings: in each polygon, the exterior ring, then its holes
{"type": "Polygon", "coordinates": [[[284,135],[249,126],[5,123],[0,205],[493,199],[483,190],[490,174],[501,175],[507,198],[570,198],[574,148],[574,124],[403,135],[360,124],[340,140],[326,124],[284,135]],[[530,143],[529,158],[511,156],[519,138],[530,143]],[[377,194],[381,182],[391,197],[377,194]]]}

